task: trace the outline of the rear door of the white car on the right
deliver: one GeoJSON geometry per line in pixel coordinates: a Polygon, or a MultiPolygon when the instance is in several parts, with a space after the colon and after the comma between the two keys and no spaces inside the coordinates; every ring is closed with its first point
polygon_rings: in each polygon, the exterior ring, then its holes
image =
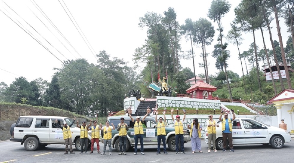
{"type": "Polygon", "coordinates": [[[241,126],[239,119],[234,120],[232,123],[233,144],[244,144],[246,141],[244,127],[241,126]]]}

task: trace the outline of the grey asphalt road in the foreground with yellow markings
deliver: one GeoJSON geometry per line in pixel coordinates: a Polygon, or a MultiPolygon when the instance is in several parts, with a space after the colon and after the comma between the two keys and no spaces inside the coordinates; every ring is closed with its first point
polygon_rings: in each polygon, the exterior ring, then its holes
{"type": "MultiPolygon", "coordinates": [[[[96,145],[96,144],[95,144],[96,145]]],[[[186,154],[175,154],[175,152],[168,151],[168,154],[156,155],[157,146],[145,146],[145,155],[133,155],[127,152],[127,155],[118,155],[115,149],[112,150],[112,156],[108,155],[108,146],[106,155],[97,153],[94,147],[93,154],[79,154],[74,149],[75,154],[63,154],[65,152],[65,145],[48,145],[44,149],[37,151],[26,151],[23,145],[18,142],[1,141],[0,142],[0,163],[54,163],[54,162],[68,162],[68,163],[87,163],[87,162],[251,162],[251,163],[265,163],[265,162],[293,162],[294,160],[294,139],[290,143],[286,143],[282,149],[273,149],[270,146],[262,144],[257,145],[239,145],[234,146],[235,152],[218,151],[217,153],[208,153],[207,144],[204,140],[201,141],[201,149],[203,153],[196,152],[192,154],[191,143],[185,143],[186,154]],[[13,160],[13,161],[12,161],[13,160]]],[[[103,144],[100,143],[100,151],[103,150],[103,144]]]]}

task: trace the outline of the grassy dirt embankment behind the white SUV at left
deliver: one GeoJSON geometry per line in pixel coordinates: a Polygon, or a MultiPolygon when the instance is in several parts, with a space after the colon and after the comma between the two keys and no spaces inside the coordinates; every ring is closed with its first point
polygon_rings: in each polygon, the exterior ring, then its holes
{"type": "Polygon", "coordinates": [[[31,106],[17,103],[0,103],[0,121],[14,121],[19,116],[64,116],[69,118],[85,118],[70,111],[42,106],[31,106]]]}

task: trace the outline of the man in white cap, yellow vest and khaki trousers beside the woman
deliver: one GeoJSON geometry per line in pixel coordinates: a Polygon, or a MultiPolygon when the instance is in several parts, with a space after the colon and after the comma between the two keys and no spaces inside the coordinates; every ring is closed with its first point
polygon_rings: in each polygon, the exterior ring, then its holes
{"type": "Polygon", "coordinates": [[[208,136],[208,152],[210,152],[211,150],[211,141],[213,143],[213,151],[218,152],[215,146],[215,138],[216,138],[215,126],[219,127],[219,125],[216,123],[215,120],[212,119],[213,118],[212,114],[210,114],[208,118],[209,118],[208,121],[206,121],[207,136],[208,136]]]}

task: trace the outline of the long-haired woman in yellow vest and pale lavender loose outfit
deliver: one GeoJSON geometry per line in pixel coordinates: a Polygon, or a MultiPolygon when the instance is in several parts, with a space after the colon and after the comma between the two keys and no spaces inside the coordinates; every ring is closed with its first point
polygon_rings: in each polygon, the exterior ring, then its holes
{"type": "Polygon", "coordinates": [[[198,122],[198,118],[193,118],[193,123],[188,124],[188,129],[190,129],[190,136],[191,136],[191,144],[192,144],[192,153],[195,153],[198,150],[200,153],[201,151],[201,131],[202,126],[198,122]]]}

